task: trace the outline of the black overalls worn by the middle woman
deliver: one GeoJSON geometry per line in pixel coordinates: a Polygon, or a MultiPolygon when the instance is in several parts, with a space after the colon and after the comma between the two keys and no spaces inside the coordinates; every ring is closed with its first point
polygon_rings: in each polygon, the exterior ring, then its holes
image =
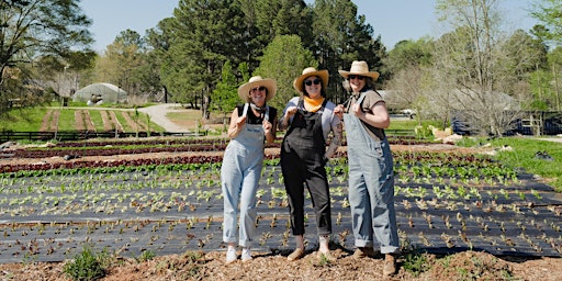
{"type": "Polygon", "coordinates": [[[304,110],[303,100],[281,145],[281,170],[286,194],[293,235],[304,235],[304,183],[311,193],[316,214],[318,235],[331,234],[331,211],[326,178],[326,142],[322,130],[322,113],[304,110]]]}

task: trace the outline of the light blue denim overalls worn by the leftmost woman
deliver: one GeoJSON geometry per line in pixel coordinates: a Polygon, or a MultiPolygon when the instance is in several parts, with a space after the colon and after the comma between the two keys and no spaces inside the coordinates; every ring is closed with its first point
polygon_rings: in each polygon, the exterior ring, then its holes
{"type": "MultiPolygon", "coordinates": [[[[244,105],[243,115],[249,104],[244,105]]],[[[269,106],[263,120],[269,120],[269,106]]],[[[240,203],[239,241],[250,247],[256,232],[256,192],[263,166],[265,133],[262,124],[245,124],[224,151],[221,181],[224,195],[223,241],[236,243],[238,202],[240,203]]]]}

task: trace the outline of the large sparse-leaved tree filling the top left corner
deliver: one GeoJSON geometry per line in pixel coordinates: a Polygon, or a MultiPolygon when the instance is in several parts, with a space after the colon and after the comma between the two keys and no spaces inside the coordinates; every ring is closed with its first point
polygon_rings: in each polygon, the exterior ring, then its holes
{"type": "MultiPolygon", "coordinates": [[[[2,0],[0,2],[0,114],[10,99],[42,99],[34,80],[33,63],[68,65],[77,50],[90,52],[91,21],[82,13],[79,0],[2,0]],[[46,60],[45,60],[46,61],[46,60]]],[[[91,55],[91,53],[89,53],[91,55]]]]}

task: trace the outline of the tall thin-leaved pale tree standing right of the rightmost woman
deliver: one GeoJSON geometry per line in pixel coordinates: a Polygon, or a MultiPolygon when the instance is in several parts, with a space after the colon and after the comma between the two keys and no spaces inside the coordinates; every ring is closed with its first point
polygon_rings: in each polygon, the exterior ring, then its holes
{"type": "Polygon", "coordinates": [[[501,30],[502,16],[496,0],[438,0],[440,21],[453,31],[436,43],[435,79],[439,93],[456,105],[479,132],[502,135],[516,115],[506,104],[502,83],[510,72],[503,49],[507,32],[501,30]]]}

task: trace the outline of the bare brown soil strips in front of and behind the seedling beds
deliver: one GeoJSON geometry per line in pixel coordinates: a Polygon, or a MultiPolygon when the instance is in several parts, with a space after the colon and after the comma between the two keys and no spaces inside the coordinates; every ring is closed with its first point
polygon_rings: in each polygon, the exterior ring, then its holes
{"type": "MultiPolygon", "coordinates": [[[[393,150],[449,151],[462,154],[488,153],[490,150],[462,148],[453,145],[401,146],[393,150]]],[[[345,149],[345,147],[340,148],[345,149]]],[[[277,154],[269,148],[266,154],[277,154]]],[[[113,160],[134,158],[162,158],[182,154],[119,155],[111,157],[85,157],[71,161],[113,160]]],[[[198,153],[202,154],[202,153],[198,153]]],[[[206,153],[206,154],[222,154],[206,153]]],[[[66,161],[60,157],[48,159],[0,159],[2,164],[66,161]]],[[[112,258],[100,280],[562,280],[562,259],[549,257],[496,257],[486,252],[463,251],[447,257],[424,255],[426,261],[415,262],[406,256],[398,257],[398,271],[384,279],[382,257],[352,257],[352,252],[335,247],[336,260],[323,262],[310,249],[297,261],[286,261],[286,252],[254,252],[254,260],[224,263],[224,251],[186,252],[159,256],[146,261],[130,258],[112,258]],[[411,266],[424,266],[427,270],[416,276],[411,266]]],[[[1,280],[71,280],[64,273],[64,262],[21,262],[0,265],[1,280]]]]}

